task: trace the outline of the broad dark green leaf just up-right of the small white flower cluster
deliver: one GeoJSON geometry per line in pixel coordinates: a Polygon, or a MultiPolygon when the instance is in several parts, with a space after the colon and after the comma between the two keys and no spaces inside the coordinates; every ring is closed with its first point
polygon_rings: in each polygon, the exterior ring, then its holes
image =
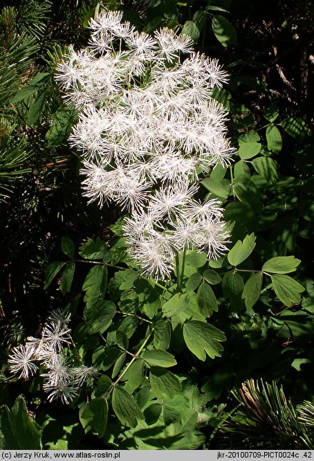
{"type": "Polygon", "coordinates": [[[84,309],[84,318],[89,326],[89,334],[102,334],[111,325],[116,314],[116,306],[109,300],[93,298],[84,309]]]}

